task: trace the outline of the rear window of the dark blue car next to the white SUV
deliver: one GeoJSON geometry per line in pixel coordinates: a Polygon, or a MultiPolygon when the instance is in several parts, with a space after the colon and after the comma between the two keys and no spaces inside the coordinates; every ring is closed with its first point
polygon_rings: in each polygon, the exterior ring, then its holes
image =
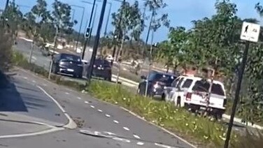
{"type": "Polygon", "coordinates": [[[164,82],[166,87],[171,87],[171,83],[175,80],[176,77],[173,75],[165,75],[162,73],[150,73],[149,81],[159,81],[164,82]]]}

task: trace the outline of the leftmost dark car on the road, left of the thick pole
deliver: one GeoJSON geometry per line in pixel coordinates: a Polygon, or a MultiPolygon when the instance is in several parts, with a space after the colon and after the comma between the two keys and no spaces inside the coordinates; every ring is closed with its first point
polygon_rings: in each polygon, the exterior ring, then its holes
{"type": "Polygon", "coordinates": [[[75,54],[55,54],[52,58],[52,73],[65,73],[81,78],[83,76],[83,62],[75,54]]]}

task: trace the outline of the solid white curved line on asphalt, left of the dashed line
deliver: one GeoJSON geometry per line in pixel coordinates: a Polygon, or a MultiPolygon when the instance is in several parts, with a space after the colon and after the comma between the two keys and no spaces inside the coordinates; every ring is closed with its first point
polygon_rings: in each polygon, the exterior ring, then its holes
{"type": "Polygon", "coordinates": [[[64,128],[69,128],[69,129],[74,129],[77,128],[77,124],[73,121],[73,119],[71,119],[71,117],[69,116],[69,114],[66,113],[66,110],[64,110],[64,108],[62,108],[62,105],[60,105],[55,98],[53,98],[52,96],[50,96],[50,94],[47,93],[47,91],[45,91],[45,89],[43,89],[42,87],[37,86],[38,89],[41,89],[41,91],[43,91],[43,93],[45,95],[47,95],[49,98],[52,99],[52,101],[55,102],[55,104],[59,107],[60,110],[62,110],[62,112],[64,113],[64,115],[66,116],[66,118],[69,120],[68,124],[64,125],[64,128]]]}

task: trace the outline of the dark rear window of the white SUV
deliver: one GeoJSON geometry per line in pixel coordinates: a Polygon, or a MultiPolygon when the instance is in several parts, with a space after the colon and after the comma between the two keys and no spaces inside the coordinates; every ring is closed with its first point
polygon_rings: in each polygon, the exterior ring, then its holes
{"type": "MultiPolygon", "coordinates": [[[[199,91],[199,92],[208,92],[209,87],[210,87],[210,82],[197,81],[197,82],[195,82],[192,90],[193,91],[199,91]]],[[[225,92],[223,91],[222,86],[220,84],[213,83],[211,93],[217,94],[220,96],[225,96],[225,92]]]]}

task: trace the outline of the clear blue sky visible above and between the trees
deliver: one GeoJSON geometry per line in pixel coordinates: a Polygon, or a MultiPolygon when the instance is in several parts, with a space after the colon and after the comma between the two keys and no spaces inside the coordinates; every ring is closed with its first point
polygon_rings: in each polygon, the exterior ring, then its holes
{"type": "MultiPolygon", "coordinates": [[[[5,1],[6,0],[0,0],[0,8],[3,9],[5,6],[5,1]],[[3,1],[3,2],[2,2],[3,1]]],[[[51,8],[51,4],[54,2],[54,0],[46,0],[48,2],[48,9],[51,8]]],[[[90,17],[90,12],[92,9],[91,4],[83,3],[82,0],[60,0],[64,3],[69,3],[70,5],[77,5],[77,6],[83,6],[85,7],[85,15],[83,19],[83,26],[82,26],[82,32],[85,31],[85,27],[87,27],[87,20],[90,17]]],[[[84,0],[88,1],[90,3],[93,2],[93,0],[84,0]]],[[[96,34],[97,32],[97,26],[99,22],[99,15],[100,15],[100,10],[101,10],[101,0],[97,0],[97,13],[96,13],[96,18],[94,21],[94,31],[93,35],[96,34]]],[[[134,0],[127,0],[130,3],[132,3],[134,0]]],[[[192,20],[200,20],[203,17],[211,17],[212,15],[215,14],[215,1],[216,0],[164,0],[165,3],[167,3],[167,7],[163,8],[162,10],[159,10],[159,14],[162,13],[168,13],[169,15],[169,20],[171,20],[171,27],[177,27],[177,26],[182,26],[187,29],[190,29],[192,27],[192,20]]],[[[257,20],[261,21],[263,18],[260,18],[260,15],[257,14],[255,10],[255,4],[260,2],[262,0],[232,0],[232,2],[236,3],[238,13],[237,15],[241,17],[242,19],[244,18],[257,18],[257,20]]],[[[36,0],[15,0],[15,2],[20,6],[20,10],[22,13],[26,13],[30,10],[31,6],[34,6],[36,3],[36,0]]],[[[108,0],[108,2],[112,3],[112,8],[111,8],[111,13],[116,12],[118,8],[120,7],[120,2],[118,1],[113,1],[113,0],[108,0]]],[[[140,8],[143,8],[143,1],[140,1],[140,8]]],[[[263,4],[263,1],[262,1],[263,4]]],[[[108,17],[108,12],[109,12],[109,6],[107,5],[106,7],[106,13],[104,15],[104,24],[101,30],[101,34],[104,33],[105,28],[106,28],[106,18],[108,17]]],[[[81,8],[77,7],[72,7],[75,10],[75,15],[74,15],[74,20],[77,20],[79,23],[76,24],[74,29],[79,30],[80,28],[80,20],[82,16],[83,10],[81,8]]],[[[150,15],[150,13],[148,13],[150,15]]],[[[111,17],[110,17],[110,22],[111,22],[111,17]]],[[[146,22],[149,24],[149,22],[146,22]]],[[[145,40],[145,36],[147,34],[147,29],[143,32],[143,38],[145,40]]],[[[111,23],[108,23],[108,29],[107,31],[113,31],[113,27],[111,23]]],[[[167,39],[167,34],[168,34],[168,29],[166,27],[161,27],[155,32],[155,36],[153,39],[154,43],[160,42],[162,40],[167,39]]]]}

